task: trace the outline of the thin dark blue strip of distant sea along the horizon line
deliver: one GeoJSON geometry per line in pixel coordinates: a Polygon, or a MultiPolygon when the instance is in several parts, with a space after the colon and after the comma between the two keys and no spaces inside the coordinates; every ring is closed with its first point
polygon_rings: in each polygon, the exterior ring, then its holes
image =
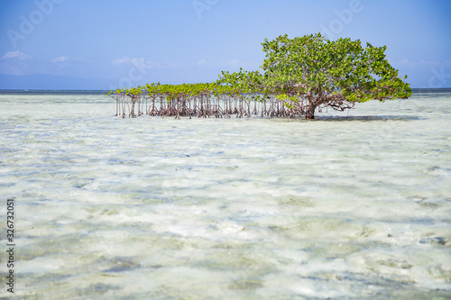
{"type": "MultiPolygon", "coordinates": [[[[0,89],[0,95],[106,95],[109,90],[0,89]]],[[[412,93],[451,93],[451,87],[412,88],[412,93]]]]}

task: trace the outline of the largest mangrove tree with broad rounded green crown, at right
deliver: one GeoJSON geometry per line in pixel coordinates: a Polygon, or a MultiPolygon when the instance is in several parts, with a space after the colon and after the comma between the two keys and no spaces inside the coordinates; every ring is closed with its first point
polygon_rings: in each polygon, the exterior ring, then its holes
{"type": "Polygon", "coordinates": [[[313,118],[308,112],[318,106],[344,110],[356,102],[411,95],[410,85],[385,59],[385,46],[367,43],[363,48],[359,40],[329,41],[319,33],[291,40],[282,35],[265,40],[262,46],[266,86],[275,95],[296,100],[308,118],[313,118]]]}

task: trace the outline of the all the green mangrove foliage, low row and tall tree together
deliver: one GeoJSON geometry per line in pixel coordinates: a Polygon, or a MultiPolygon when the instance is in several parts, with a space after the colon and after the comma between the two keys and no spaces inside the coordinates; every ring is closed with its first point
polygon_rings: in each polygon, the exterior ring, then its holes
{"type": "Polygon", "coordinates": [[[235,73],[222,71],[215,83],[153,83],[108,95],[128,95],[132,103],[143,95],[164,97],[168,103],[213,95],[264,102],[274,95],[294,114],[304,114],[308,119],[314,118],[318,107],[343,111],[372,99],[383,102],[411,95],[410,85],[398,77],[398,70],[386,59],[385,46],[366,43],[363,47],[361,41],[350,39],[329,41],[317,33],[294,39],[281,35],[262,42],[262,48],[266,53],[263,72],[240,68],[235,73]]]}

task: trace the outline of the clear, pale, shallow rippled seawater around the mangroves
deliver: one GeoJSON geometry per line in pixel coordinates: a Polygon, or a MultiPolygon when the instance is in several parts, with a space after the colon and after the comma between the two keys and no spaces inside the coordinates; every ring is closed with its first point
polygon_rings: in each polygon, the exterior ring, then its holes
{"type": "Polygon", "coordinates": [[[0,93],[0,297],[449,299],[451,91],[318,119],[0,93]]]}

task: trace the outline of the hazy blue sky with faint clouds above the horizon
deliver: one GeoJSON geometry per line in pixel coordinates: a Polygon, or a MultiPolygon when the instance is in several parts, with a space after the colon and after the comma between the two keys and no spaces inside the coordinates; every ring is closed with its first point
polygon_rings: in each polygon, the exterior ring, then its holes
{"type": "Polygon", "coordinates": [[[0,88],[113,89],[257,69],[262,41],[387,45],[412,87],[451,87],[449,0],[4,0],[0,88]]]}

